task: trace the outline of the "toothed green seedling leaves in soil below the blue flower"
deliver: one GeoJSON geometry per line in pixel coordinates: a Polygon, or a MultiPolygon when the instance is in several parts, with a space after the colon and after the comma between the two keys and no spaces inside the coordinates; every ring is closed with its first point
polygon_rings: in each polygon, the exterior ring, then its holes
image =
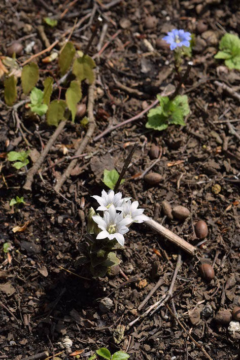
{"type": "Polygon", "coordinates": [[[184,118],[190,113],[187,95],[177,95],[173,100],[157,95],[159,106],[148,113],[147,128],[164,130],[170,124],[185,126],[184,118]]]}

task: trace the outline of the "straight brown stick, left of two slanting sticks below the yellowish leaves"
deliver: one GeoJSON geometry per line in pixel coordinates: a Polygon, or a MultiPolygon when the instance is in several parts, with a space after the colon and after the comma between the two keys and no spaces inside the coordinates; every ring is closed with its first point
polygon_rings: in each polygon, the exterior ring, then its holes
{"type": "Polygon", "coordinates": [[[66,120],[61,121],[59,123],[58,127],[56,128],[56,130],[54,131],[54,133],[50,137],[46,147],[44,148],[44,151],[42,152],[42,154],[40,155],[40,157],[38,158],[36,163],[27,172],[27,178],[26,178],[26,182],[25,182],[25,184],[23,186],[23,189],[31,191],[31,184],[32,184],[32,181],[33,181],[33,176],[36,174],[36,172],[38,171],[38,169],[42,165],[46,155],[48,154],[49,150],[51,149],[53,143],[57,139],[60,132],[63,130],[65,124],[66,124],[66,120]]]}

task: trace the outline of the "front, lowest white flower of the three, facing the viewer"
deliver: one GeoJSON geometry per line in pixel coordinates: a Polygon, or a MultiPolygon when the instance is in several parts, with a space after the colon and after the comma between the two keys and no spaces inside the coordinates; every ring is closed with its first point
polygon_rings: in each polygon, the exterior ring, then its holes
{"type": "Polygon", "coordinates": [[[102,230],[97,235],[97,239],[116,239],[120,245],[124,245],[123,234],[126,234],[129,231],[126,225],[129,225],[132,220],[129,218],[123,219],[122,213],[118,214],[114,205],[111,205],[109,209],[104,212],[104,218],[101,218],[99,215],[95,215],[92,219],[102,230]]]}

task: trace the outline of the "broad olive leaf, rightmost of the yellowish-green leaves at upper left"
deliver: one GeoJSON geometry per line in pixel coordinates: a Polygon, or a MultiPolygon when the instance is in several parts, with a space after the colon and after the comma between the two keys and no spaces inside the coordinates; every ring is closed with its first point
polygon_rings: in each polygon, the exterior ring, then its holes
{"type": "Polygon", "coordinates": [[[96,67],[94,60],[88,56],[84,55],[75,59],[73,64],[73,74],[76,76],[78,81],[88,79],[89,84],[92,84],[94,81],[94,71],[92,70],[96,67]]]}

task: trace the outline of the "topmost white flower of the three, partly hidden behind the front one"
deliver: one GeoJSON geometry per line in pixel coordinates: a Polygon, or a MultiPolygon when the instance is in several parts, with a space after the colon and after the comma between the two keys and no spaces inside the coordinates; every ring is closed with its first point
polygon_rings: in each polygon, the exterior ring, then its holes
{"type": "Polygon", "coordinates": [[[122,205],[129,200],[130,198],[124,198],[122,199],[122,193],[114,194],[113,190],[109,190],[108,194],[105,190],[102,190],[101,196],[94,195],[92,196],[100,206],[98,206],[98,211],[105,211],[108,210],[108,208],[111,205],[114,205],[116,210],[121,210],[122,205]]]}

